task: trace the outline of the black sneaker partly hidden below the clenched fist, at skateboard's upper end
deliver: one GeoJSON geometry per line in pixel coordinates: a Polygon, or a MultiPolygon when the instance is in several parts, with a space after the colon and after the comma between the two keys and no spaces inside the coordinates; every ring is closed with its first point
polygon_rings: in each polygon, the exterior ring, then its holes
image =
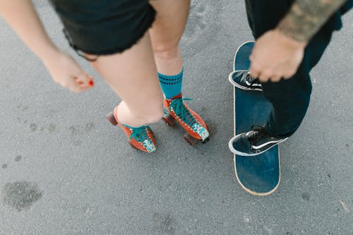
{"type": "Polygon", "coordinates": [[[229,82],[241,90],[262,91],[261,83],[258,78],[251,78],[249,71],[237,70],[229,74],[229,82]]]}

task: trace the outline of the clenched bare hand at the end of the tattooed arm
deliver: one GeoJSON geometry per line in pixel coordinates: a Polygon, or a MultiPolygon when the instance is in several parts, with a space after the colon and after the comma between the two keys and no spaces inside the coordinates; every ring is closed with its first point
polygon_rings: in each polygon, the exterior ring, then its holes
{"type": "Polygon", "coordinates": [[[250,56],[251,77],[263,83],[292,78],[301,64],[305,47],[305,42],[294,41],[279,30],[265,32],[256,40],[250,56]]]}

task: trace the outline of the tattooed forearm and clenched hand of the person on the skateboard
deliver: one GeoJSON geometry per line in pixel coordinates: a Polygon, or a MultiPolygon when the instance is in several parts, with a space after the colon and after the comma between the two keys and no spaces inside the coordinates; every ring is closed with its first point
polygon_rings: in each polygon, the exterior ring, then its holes
{"type": "Polygon", "coordinates": [[[256,40],[250,57],[251,76],[262,82],[292,78],[301,64],[306,44],[346,1],[294,1],[277,27],[256,40]]]}

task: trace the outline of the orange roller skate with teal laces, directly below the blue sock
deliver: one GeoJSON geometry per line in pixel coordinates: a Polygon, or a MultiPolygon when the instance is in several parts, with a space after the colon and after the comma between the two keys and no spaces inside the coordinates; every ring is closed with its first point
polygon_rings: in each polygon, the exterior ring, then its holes
{"type": "Polygon", "coordinates": [[[181,93],[172,99],[164,99],[164,116],[163,121],[169,126],[174,126],[177,121],[186,131],[184,139],[190,145],[195,145],[198,140],[201,143],[208,142],[208,126],[201,116],[193,112],[186,104],[184,104],[181,93]]]}

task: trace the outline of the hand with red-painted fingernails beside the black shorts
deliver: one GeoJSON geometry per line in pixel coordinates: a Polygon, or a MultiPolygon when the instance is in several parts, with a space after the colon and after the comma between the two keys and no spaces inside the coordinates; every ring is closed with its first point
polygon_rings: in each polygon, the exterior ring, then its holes
{"type": "Polygon", "coordinates": [[[94,86],[93,78],[88,76],[71,56],[55,50],[42,59],[56,83],[73,92],[83,92],[94,86]]]}

